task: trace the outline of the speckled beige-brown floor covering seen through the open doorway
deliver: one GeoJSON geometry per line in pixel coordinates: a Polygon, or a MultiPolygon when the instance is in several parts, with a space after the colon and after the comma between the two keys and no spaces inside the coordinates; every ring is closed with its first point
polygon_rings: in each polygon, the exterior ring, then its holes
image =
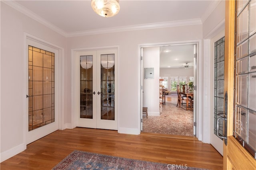
{"type": "Polygon", "coordinates": [[[170,135],[193,135],[193,112],[176,107],[177,98],[174,95],[166,95],[166,105],[160,116],[143,116],[142,132],[163,133],[170,135]]]}

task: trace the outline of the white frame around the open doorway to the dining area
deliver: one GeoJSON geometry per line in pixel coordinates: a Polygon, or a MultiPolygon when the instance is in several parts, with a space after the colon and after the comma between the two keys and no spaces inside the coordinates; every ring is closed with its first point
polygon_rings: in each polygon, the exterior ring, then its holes
{"type": "MultiPolygon", "coordinates": [[[[202,79],[203,79],[203,75],[202,75],[202,40],[201,39],[196,39],[196,40],[187,40],[187,41],[172,41],[172,42],[162,42],[162,43],[145,43],[145,44],[138,44],[138,67],[140,69],[138,69],[138,74],[141,74],[141,58],[140,58],[140,49],[142,47],[152,47],[152,46],[162,46],[162,45],[172,45],[172,44],[197,44],[197,49],[198,49],[198,55],[197,55],[197,90],[196,90],[196,96],[198,96],[197,101],[195,101],[194,105],[197,108],[196,109],[196,137],[198,138],[198,140],[202,141],[202,131],[203,131],[203,114],[202,114],[202,109],[203,109],[203,105],[202,105],[202,101],[203,101],[203,93],[202,90],[199,90],[200,88],[202,88],[202,79]],[[198,104],[200,103],[200,105],[198,104]]],[[[139,76],[139,78],[141,78],[139,76]]],[[[138,81],[138,87],[141,86],[141,80],[138,81]]],[[[141,88],[139,88],[138,94],[141,94],[140,91],[141,88]]],[[[142,97],[141,95],[139,96],[139,104],[138,106],[141,106],[141,100],[142,97]]],[[[142,107],[142,106],[141,106],[142,107]]],[[[141,114],[142,114],[142,109],[138,108],[138,124],[141,125],[141,114]]],[[[138,134],[140,134],[140,130],[138,132],[138,134]]]]}

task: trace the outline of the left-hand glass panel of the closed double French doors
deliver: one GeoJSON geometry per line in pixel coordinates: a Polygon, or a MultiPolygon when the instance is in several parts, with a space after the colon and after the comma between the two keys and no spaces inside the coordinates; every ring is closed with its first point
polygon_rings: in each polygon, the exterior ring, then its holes
{"type": "Polygon", "coordinates": [[[80,118],[93,118],[92,68],[92,55],[80,56],[80,118]]]}

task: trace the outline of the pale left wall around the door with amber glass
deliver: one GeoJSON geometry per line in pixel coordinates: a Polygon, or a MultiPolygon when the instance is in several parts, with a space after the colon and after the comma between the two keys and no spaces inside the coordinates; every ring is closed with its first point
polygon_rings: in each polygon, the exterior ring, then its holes
{"type": "Polygon", "coordinates": [[[1,161],[26,148],[25,32],[65,47],[65,37],[1,2],[1,161]]]}

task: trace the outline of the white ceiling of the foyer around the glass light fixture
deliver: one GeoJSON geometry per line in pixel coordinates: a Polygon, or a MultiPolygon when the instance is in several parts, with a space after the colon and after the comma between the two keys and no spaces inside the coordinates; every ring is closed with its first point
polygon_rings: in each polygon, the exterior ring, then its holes
{"type": "Polygon", "coordinates": [[[214,0],[119,0],[120,12],[112,18],[104,18],[92,10],[90,0],[11,2],[66,34],[182,20],[201,21],[207,17],[210,7],[216,4],[214,0]]]}

